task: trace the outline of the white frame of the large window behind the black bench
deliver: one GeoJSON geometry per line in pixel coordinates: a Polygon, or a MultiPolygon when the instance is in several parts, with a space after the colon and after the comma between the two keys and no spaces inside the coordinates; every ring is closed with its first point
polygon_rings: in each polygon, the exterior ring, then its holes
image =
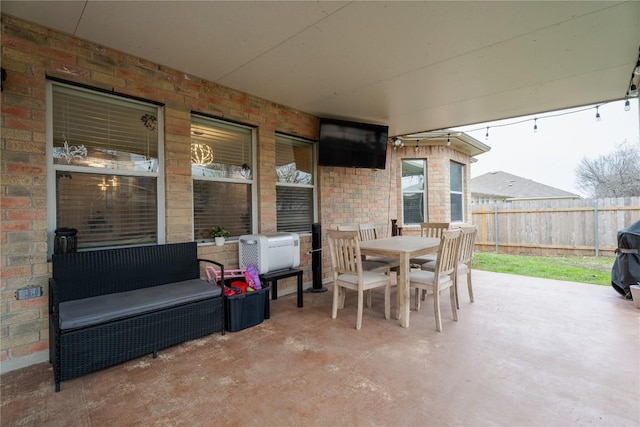
{"type": "MultiPolygon", "coordinates": [[[[165,243],[165,180],[164,180],[164,108],[162,105],[144,101],[140,99],[134,99],[123,95],[115,95],[106,93],[96,88],[90,88],[85,86],[78,86],[61,82],[54,79],[47,79],[46,82],[46,114],[45,114],[45,134],[46,134],[46,156],[47,156],[47,256],[50,259],[54,251],[55,230],[57,228],[57,173],[58,172],[71,172],[71,173],[85,173],[91,175],[114,175],[114,176],[127,176],[127,177],[151,177],[156,180],[156,244],[165,243]],[[150,171],[136,171],[117,168],[99,168],[95,166],[77,166],[77,165],[65,165],[63,163],[54,162],[54,117],[53,117],[53,90],[54,86],[62,88],[68,88],[80,92],[85,92],[92,97],[102,98],[105,103],[132,103],[140,104],[146,107],[153,107],[157,112],[157,132],[158,132],[158,169],[156,172],[150,171]]],[[[141,244],[144,245],[144,244],[141,244]]],[[[91,251],[98,249],[109,249],[112,247],[126,247],[137,246],[132,245],[111,245],[92,247],[88,249],[78,249],[78,251],[91,251]]]]}

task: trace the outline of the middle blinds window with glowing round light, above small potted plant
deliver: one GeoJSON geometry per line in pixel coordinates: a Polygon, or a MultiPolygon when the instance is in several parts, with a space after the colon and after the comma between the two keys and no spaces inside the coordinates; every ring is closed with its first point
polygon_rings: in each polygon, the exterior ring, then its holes
{"type": "Polygon", "coordinates": [[[193,224],[196,239],[213,227],[231,237],[253,232],[253,128],[193,115],[191,172],[193,224]]]}

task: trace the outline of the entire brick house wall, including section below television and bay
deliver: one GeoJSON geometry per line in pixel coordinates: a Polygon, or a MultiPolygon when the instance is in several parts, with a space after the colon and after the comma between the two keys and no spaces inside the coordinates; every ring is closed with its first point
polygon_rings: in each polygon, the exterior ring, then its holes
{"type": "MultiPolygon", "coordinates": [[[[258,139],[259,232],[276,230],[275,132],[316,139],[318,119],[312,115],[241,93],[150,63],[141,58],[2,15],[2,67],[7,80],[0,96],[0,362],[3,371],[48,360],[46,78],[165,105],[166,241],[190,241],[192,236],[190,112],[255,126],[258,139]],[[17,301],[18,288],[41,286],[40,298],[17,301]]],[[[426,158],[429,164],[429,218],[448,218],[448,161],[468,164],[468,156],[447,147],[389,150],[385,170],[319,168],[318,216],[323,230],[342,223],[373,222],[390,234],[392,218],[401,206],[399,161],[426,158]],[[432,194],[433,193],[433,194],[432,194]]],[[[467,172],[468,173],[468,172],[467,172]]],[[[52,233],[52,230],[49,231],[52,233]]],[[[306,254],[310,236],[301,236],[304,281],[311,281],[306,254]]],[[[237,267],[237,244],[203,245],[205,258],[237,267]]],[[[323,276],[330,274],[324,255],[323,276]]],[[[279,284],[293,288],[295,280],[279,284]]],[[[327,313],[329,315],[329,313],[327,313]]]]}

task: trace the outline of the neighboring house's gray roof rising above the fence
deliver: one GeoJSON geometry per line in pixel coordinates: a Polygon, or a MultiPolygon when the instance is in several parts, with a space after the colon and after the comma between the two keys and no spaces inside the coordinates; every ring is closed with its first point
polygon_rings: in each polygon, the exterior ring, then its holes
{"type": "Polygon", "coordinates": [[[471,194],[506,199],[581,198],[577,194],[502,171],[472,178],[471,194]]]}

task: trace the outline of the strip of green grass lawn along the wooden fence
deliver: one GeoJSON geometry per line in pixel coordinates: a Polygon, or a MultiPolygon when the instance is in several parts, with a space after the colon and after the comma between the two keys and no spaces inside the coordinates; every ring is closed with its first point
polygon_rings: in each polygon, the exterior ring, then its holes
{"type": "Polygon", "coordinates": [[[473,268],[611,286],[611,267],[614,261],[615,258],[609,257],[541,257],[475,252],[473,268]]]}

